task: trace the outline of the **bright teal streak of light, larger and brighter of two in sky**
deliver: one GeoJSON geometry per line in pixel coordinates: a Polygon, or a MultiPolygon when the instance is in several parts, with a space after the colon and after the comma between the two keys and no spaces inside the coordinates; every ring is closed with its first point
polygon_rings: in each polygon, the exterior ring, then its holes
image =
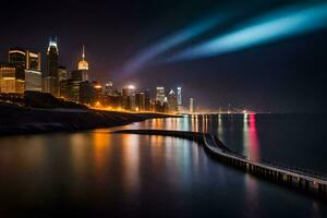
{"type": "Polygon", "coordinates": [[[165,62],[209,58],[327,27],[327,3],[299,4],[265,14],[227,34],[186,48],[165,62]]]}

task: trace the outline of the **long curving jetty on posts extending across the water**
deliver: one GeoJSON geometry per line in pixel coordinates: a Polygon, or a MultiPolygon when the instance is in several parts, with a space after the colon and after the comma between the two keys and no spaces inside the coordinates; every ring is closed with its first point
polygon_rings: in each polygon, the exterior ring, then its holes
{"type": "Polygon", "coordinates": [[[162,135],[181,137],[204,146],[214,158],[238,168],[246,173],[267,179],[271,182],[296,187],[319,197],[327,198],[327,178],[324,174],[308,172],[304,169],[268,161],[254,161],[249,157],[230,150],[217,136],[208,133],[168,131],[168,130],[120,130],[114,133],[162,135]]]}

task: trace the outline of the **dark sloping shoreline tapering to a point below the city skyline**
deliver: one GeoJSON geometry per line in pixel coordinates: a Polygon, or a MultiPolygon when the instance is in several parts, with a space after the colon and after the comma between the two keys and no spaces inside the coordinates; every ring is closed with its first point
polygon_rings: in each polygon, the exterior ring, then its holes
{"type": "Polygon", "coordinates": [[[86,131],[168,117],[173,116],[92,109],[39,109],[1,102],[0,136],[86,131]]]}

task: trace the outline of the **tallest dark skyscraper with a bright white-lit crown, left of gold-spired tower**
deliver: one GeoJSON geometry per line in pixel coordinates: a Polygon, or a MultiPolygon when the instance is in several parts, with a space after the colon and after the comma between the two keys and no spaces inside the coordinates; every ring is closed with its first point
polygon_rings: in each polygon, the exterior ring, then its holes
{"type": "Polygon", "coordinates": [[[56,97],[59,96],[58,59],[59,50],[57,38],[55,40],[50,38],[47,50],[47,71],[44,76],[43,89],[45,93],[50,93],[56,97]]]}

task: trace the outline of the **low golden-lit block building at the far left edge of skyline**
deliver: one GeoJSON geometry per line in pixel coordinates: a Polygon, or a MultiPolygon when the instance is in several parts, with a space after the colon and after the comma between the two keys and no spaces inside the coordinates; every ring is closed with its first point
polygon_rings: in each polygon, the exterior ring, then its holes
{"type": "Polygon", "coordinates": [[[24,93],[24,81],[16,78],[16,69],[11,64],[0,65],[0,93],[24,93]]]}

